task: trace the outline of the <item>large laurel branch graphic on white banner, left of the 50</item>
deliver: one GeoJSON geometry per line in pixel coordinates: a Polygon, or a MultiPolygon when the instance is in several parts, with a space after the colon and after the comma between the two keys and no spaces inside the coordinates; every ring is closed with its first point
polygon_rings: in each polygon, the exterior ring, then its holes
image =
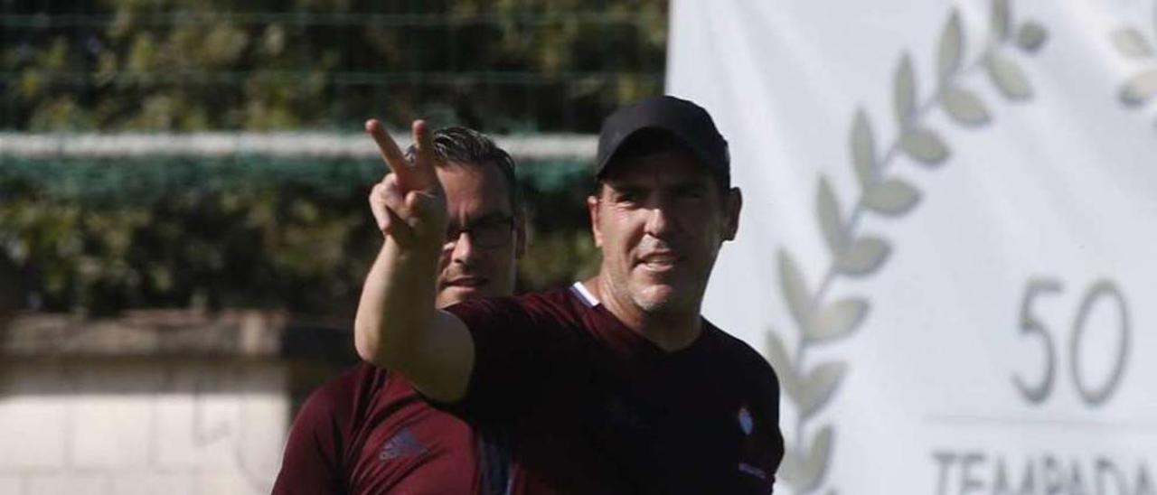
{"type": "MultiPolygon", "coordinates": [[[[898,177],[886,175],[889,167],[904,154],[913,162],[935,169],[943,165],[951,150],[943,138],[924,120],[935,109],[943,110],[952,121],[965,127],[980,127],[992,121],[985,103],[964,82],[982,69],[1003,97],[1011,102],[1032,97],[1027,77],[1009,52],[1037,52],[1047,31],[1036,22],[1016,24],[1008,0],[993,0],[987,37],[973,59],[965,64],[965,37],[960,15],[952,8],[941,32],[936,52],[936,80],[927,97],[919,97],[912,57],[904,52],[893,77],[892,103],[898,123],[898,136],[878,154],[871,120],[861,108],[850,131],[852,165],[860,185],[860,197],[845,213],[840,199],[826,177],[820,175],[816,192],[816,213],[831,263],[818,286],[810,286],[795,258],[779,251],[780,286],[795,328],[798,331],[794,353],[773,328],[766,333],[767,355],[779,371],[783,392],[795,406],[796,435],[788,445],[779,476],[797,495],[816,492],[824,482],[832,460],[835,429],[831,423],[818,426],[808,435],[817,413],[834,397],[847,362],[830,360],[806,365],[809,350],[849,337],[865,319],[870,304],[864,297],[846,297],[830,302],[830,290],[838,278],[864,278],[876,273],[889,259],[889,242],[872,234],[857,234],[860,221],[868,214],[902,216],[920,202],[920,190],[898,177]],[[815,287],[815,289],[813,289],[815,287]]],[[[1149,74],[1149,73],[1147,73],[1149,74]]],[[[1144,81],[1147,96],[1157,93],[1157,69],[1144,81]]],[[[828,489],[828,494],[835,494],[828,489]]]]}

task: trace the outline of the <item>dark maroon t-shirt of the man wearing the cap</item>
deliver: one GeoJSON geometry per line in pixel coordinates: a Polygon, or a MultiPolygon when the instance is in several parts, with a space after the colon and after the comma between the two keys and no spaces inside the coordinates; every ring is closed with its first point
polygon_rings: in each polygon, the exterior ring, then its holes
{"type": "Polygon", "coordinates": [[[779,382],[710,323],[668,353],[580,285],[448,310],[476,361],[466,397],[445,408],[507,431],[511,493],[771,493],[779,382]]]}

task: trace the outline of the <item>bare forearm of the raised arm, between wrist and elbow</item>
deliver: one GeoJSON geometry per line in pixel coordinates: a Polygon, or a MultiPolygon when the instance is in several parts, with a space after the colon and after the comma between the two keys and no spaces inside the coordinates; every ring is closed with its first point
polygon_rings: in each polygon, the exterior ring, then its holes
{"type": "Polygon", "coordinates": [[[354,320],[358,354],[375,365],[408,368],[434,320],[437,252],[399,249],[386,237],[362,287],[354,320]]]}

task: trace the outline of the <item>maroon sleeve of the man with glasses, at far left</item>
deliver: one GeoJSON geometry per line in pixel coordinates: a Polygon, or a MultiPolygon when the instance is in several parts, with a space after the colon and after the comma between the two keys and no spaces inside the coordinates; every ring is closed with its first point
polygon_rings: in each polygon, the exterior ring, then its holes
{"type": "Polygon", "coordinates": [[[302,405],[286,441],[273,495],[346,494],[342,476],[342,408],[339,383],[314,391],[302,405]]]}

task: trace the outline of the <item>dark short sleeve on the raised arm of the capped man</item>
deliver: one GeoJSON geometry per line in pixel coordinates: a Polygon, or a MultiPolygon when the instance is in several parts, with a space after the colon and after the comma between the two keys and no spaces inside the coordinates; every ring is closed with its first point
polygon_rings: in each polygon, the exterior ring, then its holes
{"type": "Polygon", "coordinates": [[[465,397],[445,411],[464,419],[503,419],[538,397],[557,360],[558,325],[525,302],[501,297],[447,309],[470,330],[474,365],[465,397]]]}

